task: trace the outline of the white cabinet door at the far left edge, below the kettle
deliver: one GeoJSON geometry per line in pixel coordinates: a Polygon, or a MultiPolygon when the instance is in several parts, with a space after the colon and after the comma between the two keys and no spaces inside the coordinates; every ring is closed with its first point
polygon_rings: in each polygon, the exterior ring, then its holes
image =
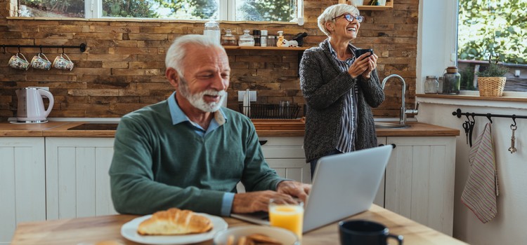
{"type": "Polygon", "coordinates": [[[16,224],[46,220],[44,138],[0,138],[0,244],[16,224]]]}

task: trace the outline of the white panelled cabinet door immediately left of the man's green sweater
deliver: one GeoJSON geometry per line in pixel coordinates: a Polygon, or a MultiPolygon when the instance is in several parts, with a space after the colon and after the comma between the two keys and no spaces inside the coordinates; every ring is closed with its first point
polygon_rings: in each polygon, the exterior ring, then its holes
{"type": "Polygon", "coordinates": [[[113,138],[46,138],[48,219],[117,214],[108,169],[113,138]]]}

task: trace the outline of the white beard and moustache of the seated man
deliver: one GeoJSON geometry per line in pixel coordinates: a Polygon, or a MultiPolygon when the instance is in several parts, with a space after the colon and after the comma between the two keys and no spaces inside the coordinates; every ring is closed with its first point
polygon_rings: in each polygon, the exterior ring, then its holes
{"type": "Polygon", "coordinates": [[[181,92],[181,95],[183,95],[183,97],[185,97],[188,102],[190,102],[190,104],[193,105],[195,108],[200,109],[204,112],[215,112],[220,109],[221,104],[223,104],[223,100],[226,97],[225,95],[227,94],[225,90],[205,90],[195,94],[190,94],[190,92],[188,91],[188,84],[186,80],[183,79],[181,76],[179,77],[179,79],[181,80],[181,83],[179,85],[179,92],[181,92]],[[204,95],[219,96],[220,99],[218,102],[205,102],[205,100],[203,99],[204,95]]]}

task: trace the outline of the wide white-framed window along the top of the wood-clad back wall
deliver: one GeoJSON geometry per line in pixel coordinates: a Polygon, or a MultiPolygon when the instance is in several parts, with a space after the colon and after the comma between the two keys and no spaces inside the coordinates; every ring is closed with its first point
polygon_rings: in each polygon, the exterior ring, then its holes
{"type": "Polygon", "coordinates": [[[23,17],[162,18],[303,24],[303,0],[18,0],[23,17]]]}

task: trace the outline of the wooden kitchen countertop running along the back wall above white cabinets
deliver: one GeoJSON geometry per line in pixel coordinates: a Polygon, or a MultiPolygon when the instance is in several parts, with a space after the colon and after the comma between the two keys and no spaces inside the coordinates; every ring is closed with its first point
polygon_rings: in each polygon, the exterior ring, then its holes
{"type": "MultiPolygon", "coordinates": [[[[301,119],[253,119],[256,133],[265,137],[303,137],[305,125],[301,119]]],[[[114,137],[115,130],[68,130],[89,123],[86,121],[50,121],[39,124],[0,123],[0,137],[114,137]]],[[[458,136],[460,130],[408,122],[406,129],[377,129],[378,137],[441,137],[458,136]]]]}

